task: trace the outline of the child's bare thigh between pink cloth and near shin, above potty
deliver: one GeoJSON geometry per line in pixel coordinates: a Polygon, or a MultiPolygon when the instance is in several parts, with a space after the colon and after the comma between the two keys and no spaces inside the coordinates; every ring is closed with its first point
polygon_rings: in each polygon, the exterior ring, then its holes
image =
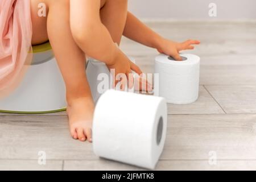
{"type": "Polygon", "coordinates": [[[48,40],[48,35],[47,35],[48,1],[49,0],[30,0],[32,31],[33,31],[32,45],[40,44],[48,40]],[[43,15],[44,10],[46,11],[45,12],[46,16],[43,15]]]}

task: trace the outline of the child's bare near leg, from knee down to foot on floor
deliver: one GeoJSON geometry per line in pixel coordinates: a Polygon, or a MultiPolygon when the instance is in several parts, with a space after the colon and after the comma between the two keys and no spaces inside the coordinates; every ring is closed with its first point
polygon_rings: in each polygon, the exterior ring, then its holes
{"type": "Polygon", "coordinates": [[[85,55],[73,40],[69,27],[69,0],[47,0],[48,37],[63,75],[71,135],[91,140],[94,103],[85,74],[85,55]]]}

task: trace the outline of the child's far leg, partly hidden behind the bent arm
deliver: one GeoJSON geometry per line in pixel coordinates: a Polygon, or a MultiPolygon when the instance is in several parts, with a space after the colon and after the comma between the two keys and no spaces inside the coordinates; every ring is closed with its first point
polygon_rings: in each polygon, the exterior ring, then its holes
{"type": "Polygon", "coordinates": [[[100,15],[101,22],[108,28],[113,41],[119,45],[126,24],[127,0],[106,1],[100,15]]]}

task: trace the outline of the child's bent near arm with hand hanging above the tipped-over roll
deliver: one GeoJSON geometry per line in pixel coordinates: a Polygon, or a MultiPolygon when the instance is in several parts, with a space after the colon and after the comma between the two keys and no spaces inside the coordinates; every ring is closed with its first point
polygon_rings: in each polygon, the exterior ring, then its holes
{"type": "MultiPolygon", "coordinates": [[[[103,61],[115,75],[131,71],[142,73],[112,40],[108,29],[101,23],[100,0],[70,0],[70,24],[77,45],[94,59],[103,61]]],[[[117,81],[116,81],[117,82],[117,81]]]]}

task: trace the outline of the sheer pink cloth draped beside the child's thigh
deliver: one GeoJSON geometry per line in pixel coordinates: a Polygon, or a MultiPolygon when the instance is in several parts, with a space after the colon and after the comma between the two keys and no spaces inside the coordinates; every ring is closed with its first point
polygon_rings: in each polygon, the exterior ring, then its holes
{"type": "Polygon", "coordinates": [[[0,0],[0,96],[22,80],[31,63],[30,0],[0,0]]]}

